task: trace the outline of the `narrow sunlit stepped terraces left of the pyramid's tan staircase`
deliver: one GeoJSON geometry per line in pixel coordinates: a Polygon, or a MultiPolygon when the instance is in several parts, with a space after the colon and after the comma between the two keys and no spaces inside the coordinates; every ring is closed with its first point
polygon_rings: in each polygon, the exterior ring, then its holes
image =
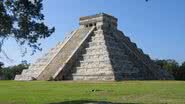
{"type": "Polygon", "coordinates": [[[28,69],[24,69],[21,75],[16,75],[15,80],[34,80],[41,74],[41,72],[45,69],[45,67],[50,63],[53,57],[60,51],[60,49],[66,44],[66,42],[70,39],[75,31],[67,33],[63,42],[59,42],[55,48],[49,50],[41,58],[37,59],[35,63],[31,64],[28,69]]]}

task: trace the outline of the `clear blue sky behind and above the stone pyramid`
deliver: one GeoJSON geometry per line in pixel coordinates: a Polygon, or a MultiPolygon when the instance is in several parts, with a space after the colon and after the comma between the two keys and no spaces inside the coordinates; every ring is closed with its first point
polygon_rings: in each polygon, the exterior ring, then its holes
{"type": "Polygon", "coordinates": [[[45,22],[55,26],[55,33],[41,40],[42,52],[21,57],[20,47],[13,39],[6,41],[4,50],[13,59],[34,62],[64,39],[65,33],[78,28],[79,17],[100,12],[118,18],[118,29],[131,38],[153,59],[185,61],[185,0],[44,0],[45,22]]]}

